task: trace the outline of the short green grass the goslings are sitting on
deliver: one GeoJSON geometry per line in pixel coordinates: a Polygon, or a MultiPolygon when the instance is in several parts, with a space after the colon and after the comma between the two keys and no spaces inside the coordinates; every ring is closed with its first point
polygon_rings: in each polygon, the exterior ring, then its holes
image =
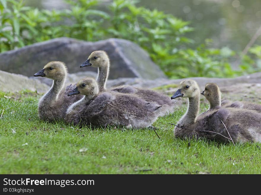
{"type": "MultiPolygon", "coordinates": [[[[153,124],[161,141],[149,129],[80,129],[40,121],[38,98],[30,91],[0,92],[1,174],[261,173],[259,143],[176,139],[168,123],[176,123],[186,105],[153,124]]],[[[206,108],[201,105],[201,111],[206,108]]]]}

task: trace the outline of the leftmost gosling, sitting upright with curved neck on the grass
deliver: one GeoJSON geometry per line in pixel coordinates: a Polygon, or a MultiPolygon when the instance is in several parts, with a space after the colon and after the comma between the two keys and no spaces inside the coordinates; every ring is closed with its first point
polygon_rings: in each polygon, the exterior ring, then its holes
{"type": "Polygon", "coordinates": [[[60,61],[49,62],[42,70],[34,74],[34,77],[47,77],[53,80],[50,90],[39,99],[38,116],[40,119],[46,121],[64,119],[67,108],[82,98],[82,96],[67,96],[75,85],[63,87],[66,75],[67,67],[60,61]]]}

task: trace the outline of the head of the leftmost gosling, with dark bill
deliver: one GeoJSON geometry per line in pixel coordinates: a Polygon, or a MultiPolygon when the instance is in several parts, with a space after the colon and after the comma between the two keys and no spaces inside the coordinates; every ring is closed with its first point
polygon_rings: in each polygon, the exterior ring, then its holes
{"type": "Polygon", "coordinates": [[[53,61],[44,66],[42,70],[36,72],[34,77],[47,77],[53,80],[61,80],[66,77],[67,67],[63,62],[53,61]]]}

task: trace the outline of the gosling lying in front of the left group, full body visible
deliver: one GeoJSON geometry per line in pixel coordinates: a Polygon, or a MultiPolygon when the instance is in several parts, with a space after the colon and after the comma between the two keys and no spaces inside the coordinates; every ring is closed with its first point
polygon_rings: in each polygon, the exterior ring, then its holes
{"type": "Polygon", "coordinates": [[[146,128],[157,120],[162,107],[134,94],[114,91],[99,93],[97,82],[91,78],[80,80],[68,96],[77,94],[85,96],[68,108],[65,121],[81,126],[146,128]]]}

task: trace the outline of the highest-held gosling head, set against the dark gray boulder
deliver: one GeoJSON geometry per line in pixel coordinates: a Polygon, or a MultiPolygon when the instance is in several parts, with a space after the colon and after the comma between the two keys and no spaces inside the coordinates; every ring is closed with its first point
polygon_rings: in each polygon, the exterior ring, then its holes
{"type": "Polygon", "coordinates": [[[106,63],[104,62],[108,61],[109,57],[105,51],[94,51],[93,53],[91,53],[88,59],[84,63],[82,63],[80,68],[85,66],[102,67],[106,66],[106,63]]]}

